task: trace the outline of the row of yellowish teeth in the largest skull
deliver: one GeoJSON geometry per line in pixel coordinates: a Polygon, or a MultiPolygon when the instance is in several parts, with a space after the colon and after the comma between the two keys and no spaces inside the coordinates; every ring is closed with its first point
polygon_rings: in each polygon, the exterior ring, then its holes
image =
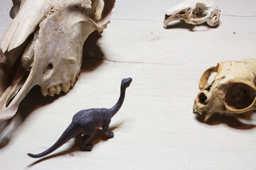
{"type": "Polygon", "coordinates": [[[46,89],[46,87],[41,87],[41,94],[43,94],[43,96],[54,96],[54,94],[59,95],[61,91],[68,93],[68,91],[70,91],[70,89],[73,88],[75,81],[79,77],[79,74],[80,71],[78,71],[75,77],[73,77],[72,79],[70,79],[70,81],[66,83],[58,84],[56,86],[50,86],[48,89],[46,89]]]}

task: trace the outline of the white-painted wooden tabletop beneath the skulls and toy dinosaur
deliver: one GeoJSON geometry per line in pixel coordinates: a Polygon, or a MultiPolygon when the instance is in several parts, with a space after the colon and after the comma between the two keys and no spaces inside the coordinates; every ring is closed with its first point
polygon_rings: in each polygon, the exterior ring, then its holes
{"type": "MultiPolygon", "coordinates": [[[[205,69],[256,57],[256,1],[216,0],[218,28],[164,29],[164,11],[179,2],[117,0],[102,38],[87,42],[74,88],[51,98],[36,87],[21,103],[23,122],[0,149],[0,169],[256,169],[255,126],[225,116],[201,123],[192,113],[205,69]],[[43,159],[26,155],[53,145],[81,109],[112,106],[124,77],[133,81],[112,119],[113,139],[98,130],[92,152],[78,138],[43,159]]],[[[0,38],[11,6],[0,1],[0,38]]]]}

